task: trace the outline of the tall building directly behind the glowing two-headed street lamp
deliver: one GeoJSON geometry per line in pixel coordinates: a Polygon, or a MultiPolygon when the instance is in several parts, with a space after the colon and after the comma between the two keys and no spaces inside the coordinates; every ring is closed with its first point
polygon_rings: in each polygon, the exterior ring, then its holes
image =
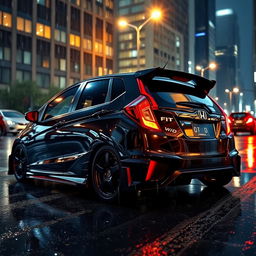
{"type": "Polygon", "coordinates": [[[161,11],[161,18],[149,21],[141,29],[139,65],[136,30],[119,28],[115,66],[118,72],[165,65],[188,70],[188,0],[121,0],[117,1],[116,12],[119,18],[138,27],[150,17],[153,8],[161,11]]]}

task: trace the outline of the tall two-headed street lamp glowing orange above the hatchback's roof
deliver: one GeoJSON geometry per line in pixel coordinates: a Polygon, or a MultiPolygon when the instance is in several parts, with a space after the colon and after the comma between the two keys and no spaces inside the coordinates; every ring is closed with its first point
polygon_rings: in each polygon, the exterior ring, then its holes
{"type": "Polygon", "coordinates": [[[141,25],[135,26],[133,24],[128,23],[125,19],[120,19],[118,21],[118,25],[121,28],[130,27],[135,29],[136,31],[136,48],[137,48],[137,68],[140,68],[140,31],[141,29],[151,20],[158,21],[161,19],[162,13],[159,9],[153,9],[151,15],[148,19],[146,19],[141,25]]]}

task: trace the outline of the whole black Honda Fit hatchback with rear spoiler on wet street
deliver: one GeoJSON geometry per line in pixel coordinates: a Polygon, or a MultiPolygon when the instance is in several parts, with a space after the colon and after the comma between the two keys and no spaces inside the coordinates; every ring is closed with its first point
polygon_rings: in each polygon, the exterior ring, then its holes
{"type": "Polygon", "coordinates": [[[103,200],[122,189],[223,186],[240,175],[227,116],[208,96],[215,81],[162,68],[108,75],[65,89],[19,134],[9,174],[85,184],[103,200]]]}

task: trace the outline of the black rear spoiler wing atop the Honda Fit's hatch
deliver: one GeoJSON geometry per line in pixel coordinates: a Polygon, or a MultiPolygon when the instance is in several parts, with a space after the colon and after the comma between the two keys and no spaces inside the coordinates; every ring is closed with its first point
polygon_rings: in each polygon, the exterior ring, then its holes
{"type": "Polygon", "coordinates": [[[163,69],[160,67],[140,70],[135,73],[135,77],[140,78],[144,82],[150,82],[156,76],[167,77],[173,82],[176,81],[177,86],[182,82],[183,86],[187,85],[188,90],[191,90],[191,87],[193,87],[193,91],[201,98],[204,98],[216,84],[215,80],[208,80],[194,74],[163,69]]]}

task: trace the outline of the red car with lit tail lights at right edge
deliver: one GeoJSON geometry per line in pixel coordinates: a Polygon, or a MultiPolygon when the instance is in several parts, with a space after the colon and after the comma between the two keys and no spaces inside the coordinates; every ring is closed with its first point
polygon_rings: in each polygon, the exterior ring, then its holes
{"type": "Polygon", "coordinates": [[[256,134],[256,120],[253,115],[246,112],[231,113],[229,116],[231,131],[236,135],[237,132],[249,132],[256,134]]]}

